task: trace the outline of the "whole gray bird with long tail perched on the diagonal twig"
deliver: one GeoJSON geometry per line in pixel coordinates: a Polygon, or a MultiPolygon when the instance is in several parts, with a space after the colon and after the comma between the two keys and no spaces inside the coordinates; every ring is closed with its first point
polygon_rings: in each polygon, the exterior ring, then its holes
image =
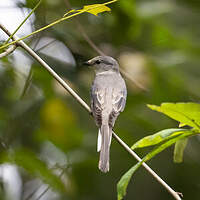
{"type": "Polygon", "coordinates": [[[99,127],[97,151],[100,151],[99,169],[109,171],[112,129],[126,104],[127,90],[119,72],[119,65],[110,56],[97,56],[85,64],[95,68],[91,89],[91,110],[99,127]]]}

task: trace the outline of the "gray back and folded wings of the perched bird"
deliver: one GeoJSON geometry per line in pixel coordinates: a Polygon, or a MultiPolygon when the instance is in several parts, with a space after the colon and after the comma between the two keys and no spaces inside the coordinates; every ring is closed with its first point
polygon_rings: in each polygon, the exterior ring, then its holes
{"type": "MultiPolygon", "coordinates": [[[[126,85],[124,79],[119,73],[97,75],[92,86],[92,98],[92,103],[95,104],[92,105],[92,108],[95,107],[92,110],[93,113],[95,112],[94,117],[96,122],[100,122],[102,115],[110,117],[112,113],[115,114],[113,119],[116,119],[118,114],[123,111],[126,102],[126,85]],[[120,106],[115,104],[118,103],[121,97],[123,97],[124,101],[124,103],[122,102],[122,108],[120,108],[121,104],[120,106]],[[99,112],[97,113],[97,111],[99,112]]],[[[103,119],[107,120],[106,117],[103,119]]],[[[100,123],[102,124],[102,121],[100,123]]]]}

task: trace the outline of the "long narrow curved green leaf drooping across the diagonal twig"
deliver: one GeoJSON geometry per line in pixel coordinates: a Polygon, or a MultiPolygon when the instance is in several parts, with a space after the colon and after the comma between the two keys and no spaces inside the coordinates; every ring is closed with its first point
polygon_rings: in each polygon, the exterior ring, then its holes
{"type": "Polygon", "coordinates": [[[194,131],[186,131],[184,134],[181,134],[175,138],[172,138],[171,140],[168,140],[164,144],[161,144],[159,147],[156,147],[154,150],[152,150],[150,153],[148,153],[140,162],[138,162],[136,165],[134,165],[131,169],[129,169],[128,172],[126,172],[120,181],[117,184],[117,193],[118,193],[118,200],[121,200],[124,195],[126,194],[126,189],[128,186],[128,183],[132,177],[132,175],[136,172],[136,170],[142,165],[143,162],[146,162],[156,156],[158,153],[166,149],[167,147],[171,146],[172,144],[176,143],[178,140],[189,137],[191,135],[196,135],[197,133],[194,131]]]}

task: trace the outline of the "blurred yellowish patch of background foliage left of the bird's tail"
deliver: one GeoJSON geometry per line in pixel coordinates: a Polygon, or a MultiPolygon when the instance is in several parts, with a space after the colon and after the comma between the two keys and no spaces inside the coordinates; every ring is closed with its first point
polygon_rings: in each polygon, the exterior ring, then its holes
{"type": "Polygon", "coordinates": [[[75,148],[81,144],[83,136],[75,117],[64,102],[49,99],[41,109],[41,128],[36,134],[38,138],[48,139],[64,151],[75,148]]]}

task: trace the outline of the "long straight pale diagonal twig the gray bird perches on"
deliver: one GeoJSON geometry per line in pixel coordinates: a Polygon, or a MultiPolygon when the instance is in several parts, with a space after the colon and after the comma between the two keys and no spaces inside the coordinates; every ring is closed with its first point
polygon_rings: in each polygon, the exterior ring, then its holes
{"type": "MultiPolygon", "coordinates": [[[[10,35],[9,31],[0,24],[0,28],[10,35]]],[[[13,37],[14,40],[17,40],[17,37],[13,37]]],[[[78,101],[89,113],[91,113],[90,107],[78,96],[63,79],[61,79],[56,72],[54,72],[50,66],[45,63],[28,45],[23,41],[18,41],[17,44],[24,48],[33,58],[35,58],[75,99],[78,101]]],[[[137,161],[141,161],[140,157],[128,147],[115,133],[113,133],[114,138],[121,144],[126,151],[128,151],[137,161]]],[[[179,195],[167,184],[165,183],[147,164],[142,163],[142,166],[161,184],[164,188],[176,199],[181,200],[179,195]]]]}

